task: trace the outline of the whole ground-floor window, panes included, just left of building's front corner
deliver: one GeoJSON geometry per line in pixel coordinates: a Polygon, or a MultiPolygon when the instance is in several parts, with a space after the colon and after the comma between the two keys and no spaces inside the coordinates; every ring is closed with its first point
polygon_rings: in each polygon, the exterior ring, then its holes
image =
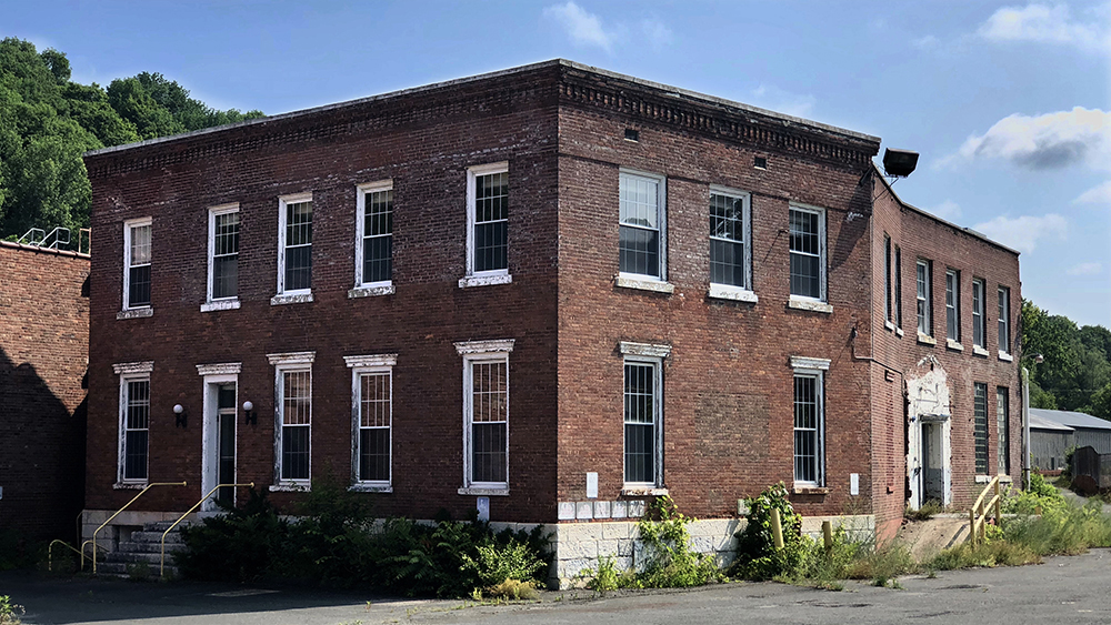
{"type": "Polygon", "coordinates": [[[463,488],[509,492],[509,353],[513,340],[456,343],[463,356],[463,488]]]}

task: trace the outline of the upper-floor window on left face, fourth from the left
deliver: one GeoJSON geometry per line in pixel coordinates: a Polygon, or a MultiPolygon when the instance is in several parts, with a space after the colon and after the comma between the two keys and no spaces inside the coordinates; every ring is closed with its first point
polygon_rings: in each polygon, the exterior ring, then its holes
{"type": "Polygon", "coordinates": [[[356,286],[393,281],[393,182],[360,185],[356,215],[356,286]]]}

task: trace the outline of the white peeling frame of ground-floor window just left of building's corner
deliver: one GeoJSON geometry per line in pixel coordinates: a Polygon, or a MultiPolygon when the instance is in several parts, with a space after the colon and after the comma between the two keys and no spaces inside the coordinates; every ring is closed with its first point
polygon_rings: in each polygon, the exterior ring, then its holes
{"type": "MultiPolygon", "coordinates": [[[[466,341],[456,343],[456,352],[463,361],[463,485],[460,495],[509,495],[510,488],[510,367],[509,354],[513,351],[513,339],[494,341],[466,341]],[[479,482],[473,476],[473,417],[474,417],[474,364],[504,363],[506,365],[506,481],[479,482]]],[[[493,422],[501,423],[501,422],[493,422]]]]}

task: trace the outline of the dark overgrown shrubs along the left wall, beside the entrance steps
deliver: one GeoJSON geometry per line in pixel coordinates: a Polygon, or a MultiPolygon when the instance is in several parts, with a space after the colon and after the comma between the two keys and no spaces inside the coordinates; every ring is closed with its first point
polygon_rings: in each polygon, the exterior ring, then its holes
{"type": "Polygon", "coordinates": [[[441,514],[433,523],[390,518],[374,523],[364,500],[329,480],[314,481],[287,517],[250,491],[228,514],[182,532],[177,562],[188,577],[259,579],[329,587],[377,587],[409,596],[523,597],[546,577],[548,536],[496,533],[489,524],[441,514]],[[512,581],[512,584],[507,584],[512,581]]]}

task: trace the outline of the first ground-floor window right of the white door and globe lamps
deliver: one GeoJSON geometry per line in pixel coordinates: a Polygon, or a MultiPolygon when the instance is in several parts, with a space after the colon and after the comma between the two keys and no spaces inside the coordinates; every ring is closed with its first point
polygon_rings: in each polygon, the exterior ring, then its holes
{"type": "Polygon", "coordinates": [[[274,365],[274,478],[272,488],[307,487],[312,429],[312,361],[316,352],[268,354],[274,365]]]}

